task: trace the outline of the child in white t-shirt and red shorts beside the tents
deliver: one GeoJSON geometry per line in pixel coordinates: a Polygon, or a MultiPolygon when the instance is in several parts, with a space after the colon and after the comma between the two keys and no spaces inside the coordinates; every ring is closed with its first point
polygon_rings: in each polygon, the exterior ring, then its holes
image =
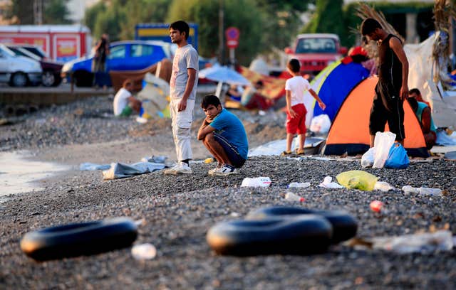
{"type": "Polygon", "coordinates": [[[293,77],[285,82],[286,90],[286,151],[282,152],[282,156],[290,155],[291,143],[294,135],[299,135],[299,147],[296,154],[304,155],[304,142],[306,141],[306,107],[304,106],[304,92],[309,90],[311,95],[318,102],[321,109],[326,108],[320,97],[311,89],[309,82],[300,75],[299,70],[301,65],[299,60],[291,59],[286,65],[287,70],[293,77]]]}

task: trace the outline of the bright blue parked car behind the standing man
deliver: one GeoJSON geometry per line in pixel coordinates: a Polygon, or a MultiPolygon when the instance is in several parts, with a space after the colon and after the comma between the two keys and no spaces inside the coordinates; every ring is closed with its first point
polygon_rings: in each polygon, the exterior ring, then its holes
{"type": "MultiPolygon", "coordinates": [[[[110,54],[106,58],[106,72],[110,70],[142,70],[158,63],[163,58],[172,60],[171,43],[163,41],[118,41],[110,43],[110,54]]],[[[88,58],[79,58],[65,63],[62,77],[73,81],[78,86],[92,85],[93,54],[88,58]]]]}

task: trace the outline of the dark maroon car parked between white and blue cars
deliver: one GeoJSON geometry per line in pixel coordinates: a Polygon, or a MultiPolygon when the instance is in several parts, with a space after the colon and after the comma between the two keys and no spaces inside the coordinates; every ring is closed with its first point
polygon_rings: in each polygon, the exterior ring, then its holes
{"type": "Polygon", "coordinates": [[[56,87],[60,85],[62,82],[61,70],[63,68],[63,63],[57,63],[56,61],[47,58],[43,50],[33,45],[9,44],[6,46],[16,53],[16,55],[38,60],[41,64],[41,68],[43,69],[41,79],[41,84],[43,86],[56,87]]]}

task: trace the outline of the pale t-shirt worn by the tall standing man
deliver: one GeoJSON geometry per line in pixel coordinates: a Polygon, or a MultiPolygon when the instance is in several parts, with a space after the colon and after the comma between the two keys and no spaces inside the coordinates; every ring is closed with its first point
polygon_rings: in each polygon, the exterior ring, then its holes
{"type": "Polygon", "coordinates": [[[182,48],[177,48],[174,59],[172,60],[170,80],[171,99],[180,99],[184,95],[188,80],[188,68],[193,68],[197,71],[195,85],[193,85],[193,90],[188,97],[189,100],[195,100],[198,85],[198,53],[190,44],[187,44],[182,48]]]}

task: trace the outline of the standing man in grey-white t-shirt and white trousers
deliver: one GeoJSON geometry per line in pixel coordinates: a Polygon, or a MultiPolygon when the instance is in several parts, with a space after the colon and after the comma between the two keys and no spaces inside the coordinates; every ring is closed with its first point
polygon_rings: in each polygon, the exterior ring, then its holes
{"type": "Polygon", "coordinates": [[[190,27],[185,21],[176,21],[170,25],[171,42],[177,44],[170,80],[170,113],[177,165],[167,169],[165,174],[192,173],[189,165],[192,159],[190,130],[197,95],[198,53],[187,43],[189,33],[190,27]]]}

